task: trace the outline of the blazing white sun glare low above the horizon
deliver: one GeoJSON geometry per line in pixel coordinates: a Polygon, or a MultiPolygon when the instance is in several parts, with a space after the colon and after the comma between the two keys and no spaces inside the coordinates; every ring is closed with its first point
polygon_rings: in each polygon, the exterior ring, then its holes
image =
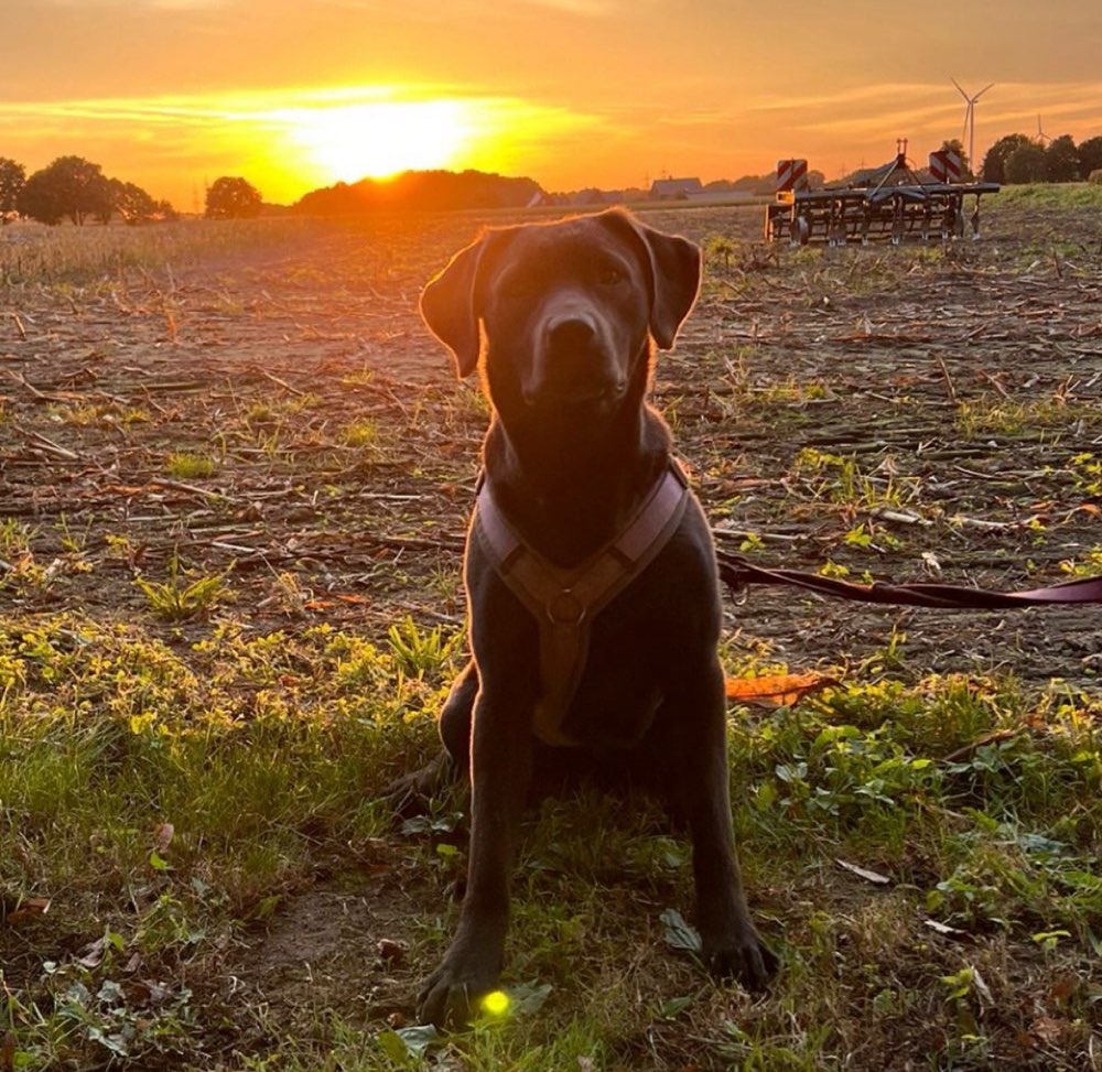
{"type": "Polygon", "coordinates": [[[375,101],[284,112],[291,140],[332,182],[446,167],[473,122],[462,100],[375,101]]]}

